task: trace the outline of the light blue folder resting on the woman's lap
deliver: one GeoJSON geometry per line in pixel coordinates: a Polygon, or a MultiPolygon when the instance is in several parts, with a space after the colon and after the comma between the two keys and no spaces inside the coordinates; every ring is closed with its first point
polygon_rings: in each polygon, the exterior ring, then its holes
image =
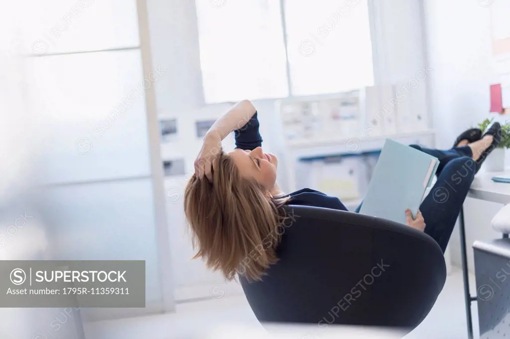
{"type": "Polygon", "coordinates": [[[438,158],[386,139],[360,213],[405,224],[405,209],[416,215],[438,165],[438,158]]]}

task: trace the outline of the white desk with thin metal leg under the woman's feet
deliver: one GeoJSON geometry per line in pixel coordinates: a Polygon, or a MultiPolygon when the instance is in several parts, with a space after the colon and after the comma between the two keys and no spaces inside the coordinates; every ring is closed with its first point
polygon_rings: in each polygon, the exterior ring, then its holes
{"type": "MultiPolygon", "coordinates": [[[[490,201],[499,204],[510,204],[510,183],[501,183],[492,181],[492,177],[510,176],[510,169],[505,172],[480,172],[475,176],[473,183],[468,191],[468,197],[490,201]]],[[[459,228],[461,233],[461,258],[464,277],[464,297],[466,301],[466,318],[468,325],[468,338],[473,338],[473,322],[471,320],[471,302],[476,301],[477,297],[471,297],[469,293],[468,280],[468,260],[466,252],[466,231],[464,227],[464,210],[461,209],[459,228]]],[[[503,237],[508,235],[503,235],[503,237]]]]}

